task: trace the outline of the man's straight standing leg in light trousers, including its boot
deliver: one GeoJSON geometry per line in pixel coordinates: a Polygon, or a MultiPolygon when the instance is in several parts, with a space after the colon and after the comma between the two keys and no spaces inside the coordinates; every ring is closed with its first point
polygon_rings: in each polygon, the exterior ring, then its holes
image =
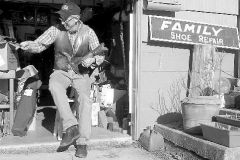
{"type": "Polygon", "coordinates": [[[79,132],[80,137],[76,141],[76,156],[87,156],[87,141],[91,136],[91,113],[92,100],[90,99],[91,80],[89,76],[83,75],[80,78],[73,79],[73,87],[77,91],[77,106],[79,109],[79,132]]]}

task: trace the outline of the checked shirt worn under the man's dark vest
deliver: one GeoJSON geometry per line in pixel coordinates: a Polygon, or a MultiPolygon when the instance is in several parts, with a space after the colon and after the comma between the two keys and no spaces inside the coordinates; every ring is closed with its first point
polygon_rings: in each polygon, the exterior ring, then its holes
{"type": "MultiPolygon", "coordinates": [[[[82,24],[79,25],[79,29],[81,28],[82,24]]],[[[51,26],[49,29],[47,29],[41,36],[39,36],[32,44],[31,44],[31,51],[35,53],[40,53],[43,50],[47,49],[52,43],[55,42],[57,39],[57,35],[60,32],[60,30],[55,27],[51,26]]],[[[93,50],[99,45],[99,40],[95,34],[95,32],[90,28],[89,30],[89,36],[90,36],[90,41],[89,41],[89,49],[93,50]]],[[[74,34],[70,34],[68,32],[68,37],[71,42],[71,45],[73,47],[74,41],[78,35],[78,31],[74,34]]],[[[80,45],[80,44],[79,44],[80,45]]],[[[76,46],[76,48],[73,48],[74,51],[77,51],[79,46],[76,46]]]]}

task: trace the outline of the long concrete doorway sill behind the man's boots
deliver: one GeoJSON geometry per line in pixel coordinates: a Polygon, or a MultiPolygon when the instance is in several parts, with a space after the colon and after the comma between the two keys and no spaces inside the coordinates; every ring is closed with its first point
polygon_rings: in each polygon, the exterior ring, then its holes
{"type": "MultiPolygon", "coordinates": [[[[44,142],[35,144],[16,144],[1,145],[0,154],[29,154],[29,153],[54,153],[59,147],[60,142],[44,142]]],[[[132,145],[132,138],[119,137],[109,139],[92,139],[89,141],[89,150],[101,150],[114,147],[129,147],[132,145]]],[[[70,146],[68,151],[75,150],[74,146],[70,146]]]]}

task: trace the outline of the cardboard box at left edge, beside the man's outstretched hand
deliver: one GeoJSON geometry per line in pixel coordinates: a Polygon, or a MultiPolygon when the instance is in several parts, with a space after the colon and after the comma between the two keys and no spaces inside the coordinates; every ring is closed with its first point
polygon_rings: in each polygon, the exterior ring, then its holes
{"type": "Polygon", "coordinates": [[[0,43],[0,70],[16,70],[18,67],[17,52],[8,43],[0,43]]]}

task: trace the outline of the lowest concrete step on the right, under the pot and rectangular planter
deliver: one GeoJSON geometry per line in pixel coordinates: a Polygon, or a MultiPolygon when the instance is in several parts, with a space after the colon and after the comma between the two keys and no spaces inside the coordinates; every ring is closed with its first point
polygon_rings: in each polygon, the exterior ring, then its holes
{"type": "Polygon", "coordinates": [[[201,136],[192,136],[181,130],[173,129],[167,125],[156,124],[154,130],[161,133],[164,139],[185,149],[194,152],[200,157],[210,160],[239,160],[240,147],[228,148],[207,140],[201,136]]]}

